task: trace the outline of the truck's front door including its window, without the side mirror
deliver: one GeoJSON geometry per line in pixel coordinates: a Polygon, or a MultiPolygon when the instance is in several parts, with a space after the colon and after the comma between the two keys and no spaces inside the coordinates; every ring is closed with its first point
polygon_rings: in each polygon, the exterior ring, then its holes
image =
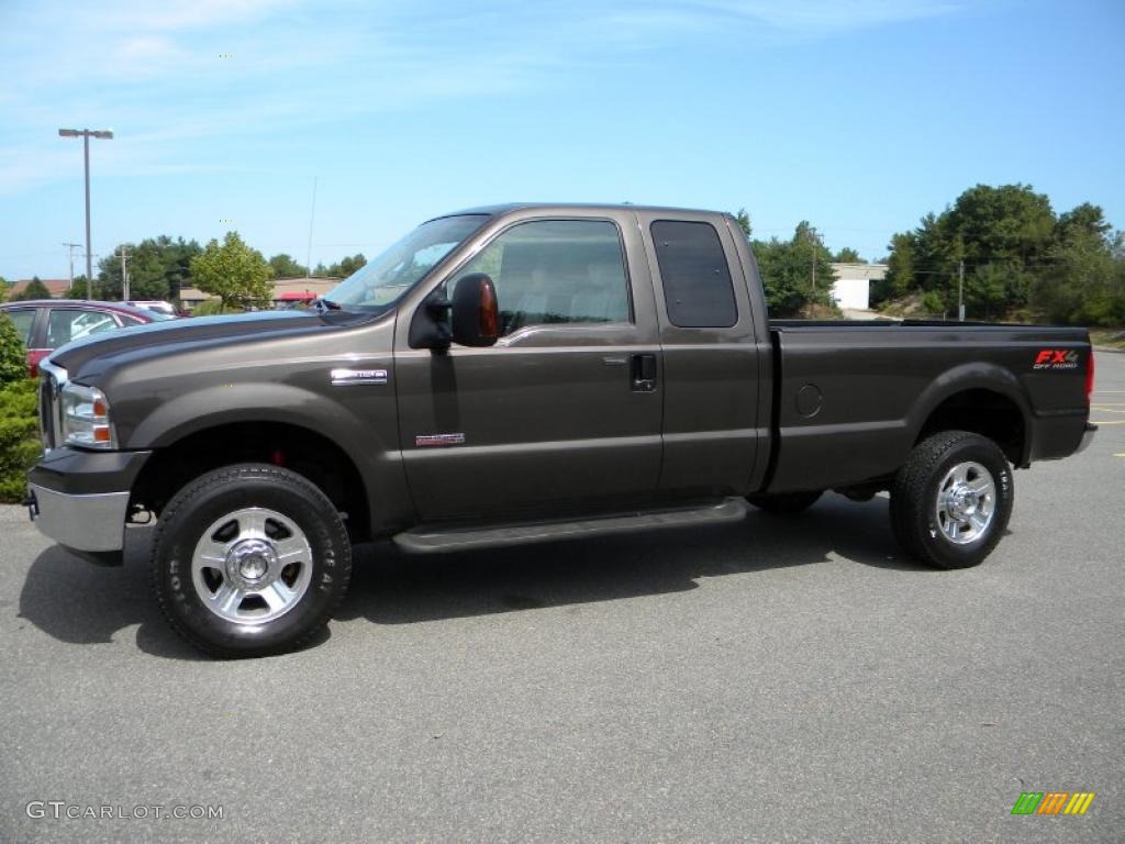
{"type": "Polygon", "coordinates": [[[516,217],[440,284],[451,293],[474,272],[496,288],[494,347],[411,349],[413,308],[395,332],[399,438],[420,518],[650,501],[660,353],[636,217],[516,217]]]}

